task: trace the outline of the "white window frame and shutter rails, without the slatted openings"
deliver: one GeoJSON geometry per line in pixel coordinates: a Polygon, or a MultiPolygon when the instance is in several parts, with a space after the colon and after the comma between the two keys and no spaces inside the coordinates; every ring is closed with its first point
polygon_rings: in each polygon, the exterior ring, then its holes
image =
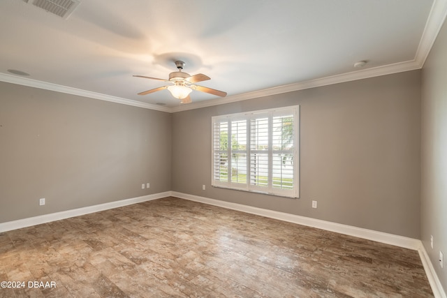
{"type": "MultiPolygon", "coordinates": [[[[256,192],[256,193],[265,193],[269,195],[278,195],[288,198],[299,198],[300,194],[300,106],[299,105],[293,105],[288,107],[278,107],[268,110],[258,110],[258,111],[251,111],[251,112],[243,112],[243,113],[237,113],[237,114],[226,114],[221,116],[214,116],[212,117],[212,154],[211,154],[211,185],[214,187],[220,187],[220,188],[230,188],[230,189],[236,189],[239,191],[250,191],[250,192],[256,192]],[[281,117],[281,116],[293,116],[293,149],[290,150],[274,150],[272,146],[272,139],[273,139],[273,129],[272,129],[272,120],[274,117],[281,117]],[[261,151],[254,150],[251,148],[251,121],[254,119],[261,119],[261,117],[268,117],[268,149],[265,149],[262,151],[262,154],[268,154],[268,182],[267,186],[257,186],[255,184],[251,183],[251,154],[261,154],[261,151]],[[242,149],[238,148],[236,150],[233,150],[233,140],[231,140],[231,124],[234,121],[246,121],[247,126],[247,136],[244,140],[246,140],[247,144],[245,144],[245,149],[243,149],[244,146],[242,146],[242,149]],[[219,123],[227,123],[228,133],[227,133],[227,149],[226,150],[220,150],[217,147],[217,143],[220,143],[220,131],[219,135],[217,135],[217,131],[215,129],[220,128],[218,125],[219,123]],[[214,135],[216,134],[216,135],[214,135]],[[217,140],[217,137],[219,138],[217,140]],[[226,156],[227,161],[227,177],[226,181],[223,181],[221,179],[217,178],[217,168],[215,167],[216,163],[219,163],[218,169],[221,169],[221,160],[216,159],[215,160],[215,154],[220,154],[220,156],[226,156]],[[245,183],[240,183],[236,181],[232,181],[232,158],[230,156],[234,156],[234,154],[245,154],[245,158],[247,160],[246,165],[246,174],[247,174],[247,181],[245,183]],[[272,158],[274,154],[293,154],[293,188],[291,189],[285,189],[283,187],[274,187],[273,186],[273,162],[272,158]]],[[[282,167],[282,165],[281,165],[282,167]]],[[[219,174],[219,177],[221,174],[219,174]]]]}

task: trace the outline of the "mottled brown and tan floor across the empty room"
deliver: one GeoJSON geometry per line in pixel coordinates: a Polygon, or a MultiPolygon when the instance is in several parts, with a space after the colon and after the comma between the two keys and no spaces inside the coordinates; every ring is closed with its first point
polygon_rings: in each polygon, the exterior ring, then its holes
{"type": "Polygon", "coordinates": [[[417,251],[177,198],[0,233],[0,281],[24,282],[0,297],[433,297],[417,251]]]}

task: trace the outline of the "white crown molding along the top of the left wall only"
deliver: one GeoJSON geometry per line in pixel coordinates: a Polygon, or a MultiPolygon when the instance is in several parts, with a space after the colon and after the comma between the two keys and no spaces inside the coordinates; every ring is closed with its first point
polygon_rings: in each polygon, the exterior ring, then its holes
{"type": "Polygon", "coordinates": [[[121,103],[122,105],[132,105],[134,107],[144,107],[145,109],[157,110],[161,112],[170,112],[168,107],[162,107],[159,105],[151,105],[150,103],[142,103],[141,101],[131,100],[126,98],[120,98],[117,96],[110,96],[97,92],[77,89],[73,87],[62,86],[58,84],[52,84],[48,82],[29,79],[28,77],[17,77],[15,75],[8,75],[6,73],[0,73],[0,81],[8,82],[12,84],[19,84],[27,87],[34,87],[39,89],[45,89],[50,91],[61,92],[65,94],[72,94],[77,96],[83,96],[88,98],[94,98],[99,100],[110,101],[112,103],[121,103]]]}

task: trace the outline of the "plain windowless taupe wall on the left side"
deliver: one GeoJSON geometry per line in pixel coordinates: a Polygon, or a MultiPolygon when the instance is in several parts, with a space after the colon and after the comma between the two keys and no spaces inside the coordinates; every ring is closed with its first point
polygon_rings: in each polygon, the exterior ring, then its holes
{"type": "Polygon", "coordinates": [[[170,149],[171,114],[0,82],[0,223],[170,191],[170,149]]]}

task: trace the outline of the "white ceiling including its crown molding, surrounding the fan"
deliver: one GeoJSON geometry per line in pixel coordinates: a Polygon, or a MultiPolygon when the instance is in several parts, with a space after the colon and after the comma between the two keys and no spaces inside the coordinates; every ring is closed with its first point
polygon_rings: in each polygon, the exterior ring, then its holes
{"type": "Polygon", "coordinates": [[[420,68],[447,10],[447,0],[80,0],[64,20],[32,1],[0,1],[0,80],[167,112],[420,68]],[[137,95],[165,83],[132,75],[168,78],[175,60],[228,96],[137,95]]]}

